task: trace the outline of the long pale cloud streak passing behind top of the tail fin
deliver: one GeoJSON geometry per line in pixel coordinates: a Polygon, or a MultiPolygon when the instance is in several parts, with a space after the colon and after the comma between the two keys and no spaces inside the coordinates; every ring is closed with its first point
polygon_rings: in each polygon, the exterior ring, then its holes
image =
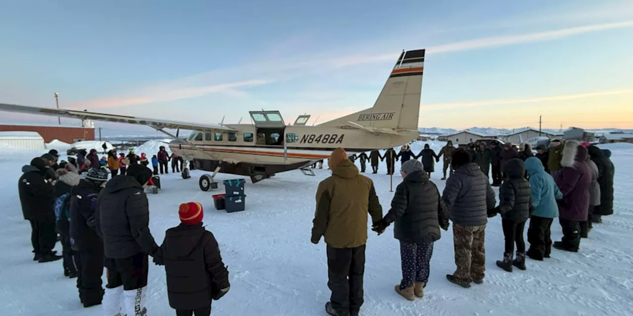
{"type": "MultiPolygon", "coordinates": [[[[628,27],[633,27],[633,20],[563,28],[545,32],[522,33],[516,35],[463,40],[451,44],[427,47],[427,51],[429,54],[470,51],[473,49],[484,49],[488,47],[543,42],[584,33],[601,32],[605,30],[628,27]]],[[[233,96],[244,97],[246,96],[246,92],[239,90],[240,88],[248,88],[256,85],[266,85],[272,82],[291,80],[301,76],[324,73],[337,68],[384,63],[391,60],[395,61],[398,54],[399,52],[392,52],[356,54],[343,57],[333,57],[330,54],[330,56],[303,56],[302,58],[262,61],[260,63],[207,71],[205,73],[173,80],[172,82],[166,82],[137,90],[127,96],[123,95],[121,97],[89,100],[88,102],[73,104],[71,107],[87,109],[91,107],[130,106],[135,104],[146,104],[149,102],[165,102],[191,97],[200,97],[214,93],[225,93],[233,96]],[[246,76],[248,76],[248,78],[246,76]],[[258,79],[253,80],[252,78],[258,79]],[[220,80],[222,80],[222,82],[220,82],[220,80]]]]}

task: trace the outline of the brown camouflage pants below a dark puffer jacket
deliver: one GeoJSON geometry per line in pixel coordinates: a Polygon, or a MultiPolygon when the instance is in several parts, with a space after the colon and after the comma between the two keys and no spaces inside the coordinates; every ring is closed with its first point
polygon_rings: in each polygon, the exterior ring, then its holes
{"type": "Polygon", "coordinates": [[[453,274],[463,283],[484,278],[486,272],[486,249],[484,240],[486,225],[464,226],[453,224],[453,243],[455,248],[455,265],[453,274]]]}

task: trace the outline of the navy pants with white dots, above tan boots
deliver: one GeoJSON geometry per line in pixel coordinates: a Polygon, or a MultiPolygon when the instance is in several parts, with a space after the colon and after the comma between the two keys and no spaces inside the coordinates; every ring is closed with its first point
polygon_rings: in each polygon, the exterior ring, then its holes
{"type": "Polygon", "coordinates": [[[410,243],[400,241],[400,258],[402,260],[402,281],[400,289],[405,289],[413,283],[429,281],[429,266],[433,255],[433,242],[410,243]]]}

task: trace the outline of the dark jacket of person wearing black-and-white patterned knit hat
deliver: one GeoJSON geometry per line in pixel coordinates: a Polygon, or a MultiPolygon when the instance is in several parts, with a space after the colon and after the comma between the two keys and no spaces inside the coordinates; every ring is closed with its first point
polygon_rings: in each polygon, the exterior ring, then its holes
{"type": "Polygon", "coordinates": [[[77,250],[103,246],[103,240],[97,235],[95,219],[100,190],[82,179],[70,191],[70,243],[77,250]]]}

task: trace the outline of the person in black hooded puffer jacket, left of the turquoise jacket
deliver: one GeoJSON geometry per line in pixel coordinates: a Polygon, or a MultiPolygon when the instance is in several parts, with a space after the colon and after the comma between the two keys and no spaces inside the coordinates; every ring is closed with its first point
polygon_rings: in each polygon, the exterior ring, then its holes
{"type": "Polygon", "coordinates": [[[525,270],[523,229],[525,221],[530,218],[534,210],[532,190],[529,181],[524,177],[525,162],[521,159],[510,159],[504,164],[503,172],[508,175],[508,179],[503,181],[503,185],[499,188],[499,206],[488,214],[488,217],[501,214],[502,218],[501,225],[506,245],[503,261],[497,261],[497,265],[508,272],[512,272],[513,265],[520,270],[525,270]],[[515,243],[517,243],[517,258],[512,260],[515,243]]]}

